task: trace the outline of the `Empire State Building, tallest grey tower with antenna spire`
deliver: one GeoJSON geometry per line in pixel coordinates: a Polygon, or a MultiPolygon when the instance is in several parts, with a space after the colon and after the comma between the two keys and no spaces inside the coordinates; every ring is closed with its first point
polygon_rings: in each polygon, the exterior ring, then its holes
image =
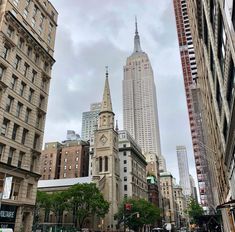
{"type": "Polygon", "coordinates": [[[135,24],[134,51],[127,58],[123,80],[124,129],[143,152],[161,155],[156,89],[148,55],[142,51],[135,24]]]}

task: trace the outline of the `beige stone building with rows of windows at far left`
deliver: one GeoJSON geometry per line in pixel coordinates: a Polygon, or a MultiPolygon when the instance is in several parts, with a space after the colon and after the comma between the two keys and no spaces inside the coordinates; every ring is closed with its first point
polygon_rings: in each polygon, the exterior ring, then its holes
{"type": "Polygon", "coordinates": [[[57,15],[48,0],[0,1],[0,228],[16,232],[32,231],[57,15]]]}

